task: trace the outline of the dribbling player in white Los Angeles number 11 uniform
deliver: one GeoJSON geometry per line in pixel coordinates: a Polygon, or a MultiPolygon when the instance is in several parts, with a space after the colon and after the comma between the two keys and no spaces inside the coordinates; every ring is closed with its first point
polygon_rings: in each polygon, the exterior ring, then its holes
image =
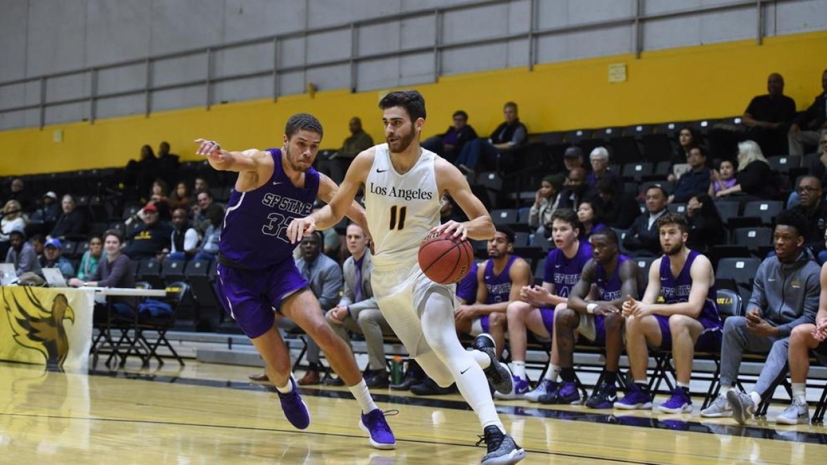
{"type": "Polygon", "coordinates": [[[496,360],[488,334],[475,339],[476,350],[462,348],[454,327],[455,286],[428,280],[417,261],[419,243],[431,232],[487,240],[494,237],[494,224],[460,171],[419,146],[425,124],[422,95],[392,92],[379,107],[387,143],[356,156],[330,203],[308,217],[294,219],[288,235],[299,242],[309,232],[331,228],[364,188],[375,246],[371,284],[382,314],[411,357],[439,386],[457,382],[483,427],[488,453],[482,463],[517,463],[525,451],[505,434],[485,382],[488,376],[497,391],[508,393],[513,387],[511,373],[496,360]],[[469,221],[439,223],[439,199],[445,193],[457,201],[469,221]]]}

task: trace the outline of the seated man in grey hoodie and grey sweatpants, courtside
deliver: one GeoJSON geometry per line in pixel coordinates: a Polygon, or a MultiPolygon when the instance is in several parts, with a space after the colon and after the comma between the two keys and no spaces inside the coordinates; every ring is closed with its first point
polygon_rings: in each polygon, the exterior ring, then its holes
{"type": "Polygon", "coordinates": [[[746,423],[763,399],[772,397],[776,380],[786,374],[793,328],[815,323],[819,309],[819,266],[805,247],[805,219],[784,211],[776,218],[775,255],[762,261],[745,316],[730,316],[721,343],[721,395],[702,416],[729,416],[746,423]],[[743,351],[769,352],[749,394],[734,391],[743,351]],[[740,393],[740,394],[739,394],[740,393]]]}

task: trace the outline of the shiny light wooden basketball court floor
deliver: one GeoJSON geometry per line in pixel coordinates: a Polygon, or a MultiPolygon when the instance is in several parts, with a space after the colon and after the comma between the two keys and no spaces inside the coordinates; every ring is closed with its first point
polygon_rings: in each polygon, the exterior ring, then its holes
{"type": "MultiPolygon", "coordinates": [[[[342,389],[303,390],[312,424],[293,429],[246,367],[188,362],[173,371],[66,373],[0,363],[2,463],[479,463],[476,415],[458,396],[377,390],[394,451],[370,448],[342,389]],[[341,397],[341,398],[340,398],[341,397]]],[[[500,402],[523,463],[805,463],[827,453],[820,426],[734,426],[695,415],[625,415],[500,402]]],[[[772,415],[771,415],[772,417],[772,415]]]]}

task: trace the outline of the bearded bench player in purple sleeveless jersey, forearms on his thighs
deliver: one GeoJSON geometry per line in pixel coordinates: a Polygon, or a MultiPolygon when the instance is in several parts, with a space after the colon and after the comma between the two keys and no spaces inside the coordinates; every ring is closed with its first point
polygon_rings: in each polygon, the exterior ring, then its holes
{"type": "Polygon", "coordinates": [[[626,352],[634,384],[614,408],[651,409],[646,367],[648,347],[672,349],[677,386],[657,410],[668,414],[692,411],[689,381],[695,349],[720,346],[721,323],[715,292],[715,271],[706,256],[686,248],[689,223],[679,213],[657,219],[663,256],[649,268],[649,284],[642,300],[628,295],[623,304],[626,318],[626,352]],[[658,304],[658,301],[665,302],[658,304]]]}

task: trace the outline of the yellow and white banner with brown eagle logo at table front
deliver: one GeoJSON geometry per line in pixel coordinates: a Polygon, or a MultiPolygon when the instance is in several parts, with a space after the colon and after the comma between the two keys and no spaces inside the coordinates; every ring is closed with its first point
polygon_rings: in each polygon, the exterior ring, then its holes
{"type": "Polygon", "coordinates": [[[92,345],[93,293],[0,288],[0,360],[84,368],[92,345]]]}

